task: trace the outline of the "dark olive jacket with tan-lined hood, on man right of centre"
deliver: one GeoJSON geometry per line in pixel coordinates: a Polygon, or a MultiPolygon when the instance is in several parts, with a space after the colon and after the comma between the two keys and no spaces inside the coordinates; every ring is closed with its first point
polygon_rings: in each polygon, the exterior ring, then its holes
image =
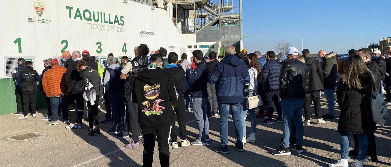
{"type": "Polygon", "coordinates": [[[325,89],[335,89],[335,84],[337,84],[337,52],[328,53],[325,57],[322,57],[322,70],[323,70],[323,88],[325,89]]]}

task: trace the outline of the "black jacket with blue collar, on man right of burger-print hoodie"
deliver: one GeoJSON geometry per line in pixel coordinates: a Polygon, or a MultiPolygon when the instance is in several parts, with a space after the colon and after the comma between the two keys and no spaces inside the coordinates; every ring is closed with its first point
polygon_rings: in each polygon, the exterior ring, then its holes
{"type": "Polygon", "coordinates": [[[174,80],[174,86],[178,92],[177,96],[183,96],[183,81],[185,80],[185,72],[181,67],[178,67],[176,64],[169,64],[166,68],[163,69],[166,73],[169,73],[171,79],[174,80]]]}

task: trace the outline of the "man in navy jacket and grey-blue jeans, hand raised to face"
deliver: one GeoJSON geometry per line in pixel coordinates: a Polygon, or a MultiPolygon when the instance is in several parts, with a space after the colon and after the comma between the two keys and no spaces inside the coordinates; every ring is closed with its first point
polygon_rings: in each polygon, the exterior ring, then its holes
{"type": "Polygon", "coordinates": [[[191,64],[187,65],[186,80],[191,84],[190,96],[193,102],[194,119],[198,123],[199,131],[198,138],[192,145],[200,146],[206,145],[209,139],[209,121],[206,118],[206,98],[208,98],[208,92],[206,91],[208,85],[206,84],[208,79],[208,69],[202,61],[203,53],[201,50],[193,51],[194,63],[197,68],[191,72],[191,64]]]}

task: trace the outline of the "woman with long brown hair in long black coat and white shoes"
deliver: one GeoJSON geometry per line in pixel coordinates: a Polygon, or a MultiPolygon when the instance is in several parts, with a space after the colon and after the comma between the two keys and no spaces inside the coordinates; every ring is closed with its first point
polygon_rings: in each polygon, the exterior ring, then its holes
{"type": "Polygon", "coordinates": [[[329,167],[348,167],[348,135],[359,137],[359,154],[352,167],[362,167],[362,160],[368,149],[367,133],[376,130],[372,118],[371,96],[374,77],[359,55],[348,58],[346,73],[342,75],[337,89],[339,115],[338,132],[341,133],[341,159],[329,167]]]}

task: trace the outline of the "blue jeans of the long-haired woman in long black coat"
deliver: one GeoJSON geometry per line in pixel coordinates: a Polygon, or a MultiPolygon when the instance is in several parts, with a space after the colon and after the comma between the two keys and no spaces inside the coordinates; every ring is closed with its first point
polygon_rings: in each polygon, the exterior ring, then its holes
{"type": "MultiPolygon", "coordinates": [[[[367,134],[358,134],[359,137],[359,154],[357,160],[364,160],[368,149],[367,134]]],[[[348,134],[341,133],[341,159],[347,160],[349,155],[349,139],[348,134]]]]}

